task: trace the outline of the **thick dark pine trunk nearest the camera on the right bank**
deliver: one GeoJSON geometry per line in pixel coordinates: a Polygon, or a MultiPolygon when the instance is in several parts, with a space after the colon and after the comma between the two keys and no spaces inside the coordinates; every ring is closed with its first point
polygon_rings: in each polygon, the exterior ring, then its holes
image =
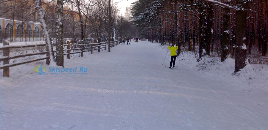
{"type": "MultiPolygon", "coordinates": [[[[247,7],[246,4],[243,7],[247,7]]],[[[235,73],[246,66],[247,47],[246,47],[246,28],[247,11],[236,11],[236,52],[235,52],[235,73]]]]}

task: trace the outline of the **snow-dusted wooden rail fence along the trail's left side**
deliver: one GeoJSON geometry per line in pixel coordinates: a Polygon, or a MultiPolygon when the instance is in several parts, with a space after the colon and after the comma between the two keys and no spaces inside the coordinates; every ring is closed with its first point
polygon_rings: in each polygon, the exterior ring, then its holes
{"type": "MultiPolygon", "coordinates": [[[[53,44],[56,45],[56,44],[53,44]]],[[[64,46],[67,46],[67,49],[63,49],[63,51],[66,51],[66,53],[63,53],[63,55],[67,55],[67,58],[70,59],[70,54],[80,53],[80,56],[83,56],[83,52],[91,51],[91,54],[93,54],[93,50],[98,50],[100,52],[100,49],[108,47],[108,42],[100,42],[100,43],[90,43],[90,44],[71,44],[70,41],[67,41],[67,44],[63,44],[64,46]],[[79,48],[73,48],[71,46],[79,45],[79,48]],[[71,50],[80,50],[80,51],[74,51],[71,52],[71,50]]],[[[114,47],[116,45],[119,45],[119,40],[111,41],[110,47],[114,47]]],[[[0,66],[0,69],[3,69],[3,76],[9,77],[9,67],[21,65],[21,64],[27,64],[34,61],[40,61],[40,60],[49,60],[48,58],[48,52],[42,51],[37,53],[27,53],[27,54],[21,54],[21,55],[14,55],[10,56],[10,49],[18,49],[18,48],[29,48],[29,47],[45,47],[46,44],[38,44],[38,45],[22,45],[22,46],[10,46],[7,41],[3,41],[3,46],[0,47],[0,50],[3,50],[3,56],[0,57],[0,61],[3,61],[3,65],[0,66]],[[36,58],[30,61],[24,61],[19,63],[9,63],[10,59],[15,58],[21,58],[26,56],[35,56],[35,55],[43,55],[46,54],[43,58],[36,58]]],[[[46,62],[48,63],[48,62],[46,62]]]]}

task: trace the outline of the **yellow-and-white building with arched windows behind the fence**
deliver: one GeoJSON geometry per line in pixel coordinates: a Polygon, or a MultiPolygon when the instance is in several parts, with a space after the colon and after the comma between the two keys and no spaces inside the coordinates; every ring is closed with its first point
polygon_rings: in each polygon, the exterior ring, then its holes
{"type": "Polygon", "coordinates": [[[44,40],[40,22],[24,22],[0,18],[0,42],[26,42],[44,40]]]}

